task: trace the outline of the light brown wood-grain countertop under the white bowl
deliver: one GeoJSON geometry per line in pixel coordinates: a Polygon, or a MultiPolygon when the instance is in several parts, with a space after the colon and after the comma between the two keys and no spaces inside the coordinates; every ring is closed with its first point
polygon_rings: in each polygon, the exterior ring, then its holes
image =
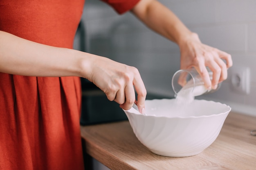
{"type": "Polygon", "coordinates": [[[256,169],[256,117],[230,112],[218,138],[191,157],[164,157],[142,145],[128,121],[81,126],[86,152],[111,170],[256,169]]]}

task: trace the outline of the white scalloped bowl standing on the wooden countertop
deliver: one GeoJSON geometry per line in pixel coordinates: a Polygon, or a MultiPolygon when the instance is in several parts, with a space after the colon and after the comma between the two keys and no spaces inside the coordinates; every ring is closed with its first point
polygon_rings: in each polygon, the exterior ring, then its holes
{"type": "Polygon", "coordinates": [[[157,155],[197,155],[218,137],[231,108],[220,102],[194,100],[177,106],[175,99],[146,100],[146,114],[126,113],[139,141],[157,155]]]}

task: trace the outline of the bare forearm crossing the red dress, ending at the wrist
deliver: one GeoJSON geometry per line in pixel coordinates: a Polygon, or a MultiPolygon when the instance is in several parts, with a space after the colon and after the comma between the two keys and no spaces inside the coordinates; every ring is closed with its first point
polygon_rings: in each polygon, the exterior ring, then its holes
{"type": "Polygon", "coordinates": [[[24,76],[81,76],[82,70],[86,73],[86,57],[81,53],[0,31],[0,72],[24,76]]]}

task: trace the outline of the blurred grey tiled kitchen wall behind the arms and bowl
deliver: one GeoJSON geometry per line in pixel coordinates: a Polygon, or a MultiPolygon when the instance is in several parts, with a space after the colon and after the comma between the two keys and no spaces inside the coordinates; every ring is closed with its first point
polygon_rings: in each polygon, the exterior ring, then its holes
{"type": "MultiPolygon", "coordinates": [[[[198,98],[222,102],[232,111],[256,116],[256,1],[159,1],[198,33],[204,44],[232,56],[234,66],[220,89],[198,98]]],[[[135,66],[148,94],[174,96],[171,78],[180,68],[176,44],[148,29],[131,13],[118,15],[100,0],[86,0],[81,28],[74,48],[135,66]]],[[[96,164],[96,169],[106,168],[96,164]]]]}

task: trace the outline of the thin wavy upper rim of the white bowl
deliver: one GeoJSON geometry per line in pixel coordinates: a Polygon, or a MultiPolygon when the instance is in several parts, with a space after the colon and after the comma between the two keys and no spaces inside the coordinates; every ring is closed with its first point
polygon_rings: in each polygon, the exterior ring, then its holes
{"type": "MultiPolygon", "coordinates": [[[[150,99],[150,101],[153,101],[153,100],[175,100],[175,98],[162,98],[162,99],[150,99]]],[[[186,118],[208,118],[208,117],[213,117],[213,116],[219,116],[219,115],[225,115],[225,114],[228,114],[230,111],[231,111],[231,107],[229,105],[226,105],[224,103],[221,103],[221,102],[215,102],[213,100],[204,100],[204,99],[195,99],[195,100],[201,100],[201,101],[206,101],[206,102],[214,102],[214,103],[217,103],[217,104],[221,104],[221,105],[225,105],[228,110],[225,111],[225,112],[222,112],[222,113],[218,113],[218,114],[211,114],[211,115],[202,115],[202,116],[173,116],[173,117],[167,117],[167,116],[153,116],[153,115],[146,115],[146,114],[141,114],[141,113],[136,113],[135,109],[132,107],[130,108],[129,110],[124,110],[125,113],[131,113],[131,114],[135,114],[135,115],[138,115],[138,116],[146,116],[146,117],[154,117],[154,118],[182,118],[182,119],[186,119],[186,118]],[[131,112],[131,110],[134,110],[135,112],[131,112]]],[[[149,100],[146,100],[146,101],[149,101],[149,100]]]]}

